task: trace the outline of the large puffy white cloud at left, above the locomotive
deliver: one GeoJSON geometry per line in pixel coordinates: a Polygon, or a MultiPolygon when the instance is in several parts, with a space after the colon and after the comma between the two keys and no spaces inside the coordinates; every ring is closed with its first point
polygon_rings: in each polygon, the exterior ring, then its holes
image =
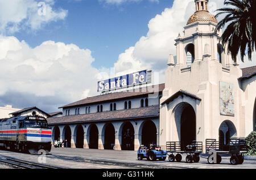
{"type": "Polygon", "coordinates": [[[45,41],[31,48],[16,37],[0,36],[0,55],[1,96],[28,93],[69,103],[85,98],[97,88],[98,69],[91,66],[91,51],[75,44],[45,41]]]}

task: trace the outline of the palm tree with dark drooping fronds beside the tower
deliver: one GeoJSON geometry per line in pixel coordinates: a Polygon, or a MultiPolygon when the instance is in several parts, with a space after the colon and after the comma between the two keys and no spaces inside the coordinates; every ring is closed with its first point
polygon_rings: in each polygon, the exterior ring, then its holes
{"type": "Polygon", "coordinates": [[[226,14],[225,18],[218,22],[215,32],[227,25],[221,36],[221,43],[228,45],[228,52],[234,62],[237,62],[237,55],[240,51],[241,60],[247,55],[251,61],[251,54],[255,51],[256,39],[256,9],[255,0],[225,0],[225,8],[218,9],[216,18],[226,14]]]}

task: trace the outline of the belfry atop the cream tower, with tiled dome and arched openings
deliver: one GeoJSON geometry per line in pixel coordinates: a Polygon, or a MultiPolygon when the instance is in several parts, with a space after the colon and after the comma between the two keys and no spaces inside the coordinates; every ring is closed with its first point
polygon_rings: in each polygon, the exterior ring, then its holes
{"type": "Polygon", "coordinates": [[[220,62],[222,66],[233,64],[227,49],[219,43],[222,32],[215,33],[218,21],[208,11],[208,2],[209,0],[195,0],[195,13],[188,19],[184,35],[177,36],[176,66],[185,68],[194,61],[203,61],[205,57],[220,62]],[[205,52],[207,56],[204,55],[205,52]]]}

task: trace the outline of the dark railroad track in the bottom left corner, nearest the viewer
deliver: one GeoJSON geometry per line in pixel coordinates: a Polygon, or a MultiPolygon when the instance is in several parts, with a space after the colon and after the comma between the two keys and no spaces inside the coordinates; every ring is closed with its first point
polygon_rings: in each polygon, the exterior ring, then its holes
{"type": "Polygon", "coordinates": [[[36,164],[34,162],[17,160],[14,158],[1,158],[0,162],[13,165],[15,167],[22,168],[22,169],[57,169],[57,167],[55,166],[36,164]]]}

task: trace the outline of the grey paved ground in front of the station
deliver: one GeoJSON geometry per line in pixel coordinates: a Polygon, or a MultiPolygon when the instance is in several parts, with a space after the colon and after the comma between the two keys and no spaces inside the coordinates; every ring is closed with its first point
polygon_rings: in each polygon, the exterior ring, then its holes
{"type": "MultiPolygon", "coordinates": [[[[137,152],[99,149],[73,149],[52,148],[51,154],[46,158],[38,155],[17,153],[0,150],[1,157],[19,158],[24,161],[45,162],[47,165],[59,166],[60,168],[82,168],[82,169],[133,169],[133,168],[204,168],[204,169],[256,169],[256,160],[245,160],[242,165],[230,165],[229,157],[222,157],[221,164],[210,165],[206,157],[200,158],[199,163],[188,164],[185,156],[181,162],[137,160],[137,152]]],[[[8,168],[1,165],[0,168],[8,168]]]]}

